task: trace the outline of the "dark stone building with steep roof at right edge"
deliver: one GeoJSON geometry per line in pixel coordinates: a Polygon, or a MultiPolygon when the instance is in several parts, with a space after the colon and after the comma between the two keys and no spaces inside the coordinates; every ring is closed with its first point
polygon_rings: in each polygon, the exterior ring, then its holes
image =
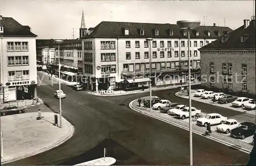
{"type": "Polygon", "coordinates": [[[200,53],[202,86],[255,95],[255,16],[200,53]]]}

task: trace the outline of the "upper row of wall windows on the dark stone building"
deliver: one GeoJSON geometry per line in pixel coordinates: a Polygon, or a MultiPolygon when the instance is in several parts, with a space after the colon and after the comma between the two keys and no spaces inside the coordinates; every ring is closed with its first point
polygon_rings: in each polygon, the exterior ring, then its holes
{"type": "MultiPolygon", "coordinates": [[[[247,74],[247,65],[246,64],[242,64],[242,70],[241,70],[241,74],[242,75],[246,75],[247,74]]],[[[215,72],[215,67],[214,67],[214,63],[210,63],[210,73],[214,73],[215,72]]],[[[233,65],[231,63],[223,63],[222,64],[222,73],[223,74],[232,74],[233,73],[233,65]]]]}

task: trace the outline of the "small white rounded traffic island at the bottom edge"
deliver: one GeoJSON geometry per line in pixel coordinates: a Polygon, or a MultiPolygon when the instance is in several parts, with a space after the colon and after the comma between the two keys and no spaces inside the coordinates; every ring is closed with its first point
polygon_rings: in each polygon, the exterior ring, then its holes
{"type": "Polygon", "coordinates": [[[79,163],[76,165],[112,165],[116,162],[116,159],[113,157],[102,157],[95,160],[79,163]]]}

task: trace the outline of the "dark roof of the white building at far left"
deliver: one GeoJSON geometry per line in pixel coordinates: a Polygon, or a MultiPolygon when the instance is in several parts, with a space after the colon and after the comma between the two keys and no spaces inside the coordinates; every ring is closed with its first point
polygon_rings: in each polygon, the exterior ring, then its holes
{"type": "Polygon", "coordinates": [[[2,17],[1,25],[4,26],[4,37],[37,37],[27,26],[23,26],[12,17],[2,17]]]}

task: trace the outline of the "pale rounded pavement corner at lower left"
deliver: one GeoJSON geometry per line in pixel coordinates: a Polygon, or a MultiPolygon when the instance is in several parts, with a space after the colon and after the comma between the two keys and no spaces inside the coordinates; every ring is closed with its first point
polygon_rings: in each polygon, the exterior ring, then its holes
{"type": "Polygon", "coordinates": [[[41,115],[41,120],[36,120],[37,113],[1,117],[4,152],[2,164],[48,151],[73,136],[74,126],[65,118],[62,117],[60,128],[59,122],[58,126],[54,125],[54,113],[42,112],[41,115]]]}

